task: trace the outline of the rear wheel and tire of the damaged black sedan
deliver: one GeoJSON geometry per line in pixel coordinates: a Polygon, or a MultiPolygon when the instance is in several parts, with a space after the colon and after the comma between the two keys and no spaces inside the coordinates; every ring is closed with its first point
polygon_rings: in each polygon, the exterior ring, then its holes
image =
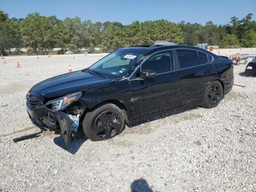
{"type": "Polygon", "coordinates": [[[219,81],[211,82],[203,95],[203,106],[205,108],[214,108],[218,106],[220,101],[222,100],[223,89],[222,85],[219,81]]]}

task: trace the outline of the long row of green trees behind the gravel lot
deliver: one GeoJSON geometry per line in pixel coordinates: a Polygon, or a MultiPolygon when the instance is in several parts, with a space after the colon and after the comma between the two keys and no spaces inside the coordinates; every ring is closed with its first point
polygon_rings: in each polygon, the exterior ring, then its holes
{"type": "MultiPolygon", "coordinates": [[[[54,47],[79,53],[81,48],[94,50],[101,47],[111,52],[126,46],[152,44],[155,40],[168,40],[175,44],[195,46],[199,43],[234,46],[256,46],[256,21],[252,14],[239,20],[230,18],[230,23],[205,25],[182,21],[154,20],[123,25],[120,22],[81,21],[79,17],[59,20],[56,16],[41,16],[30,13],[26,18],[9,18],[0,10],[0,53],[8,54],[10,48],[25,47],[33,54],[47,54],[54,47]]],[[[19,51],[19,50],[17,50],[19,51]]]]}

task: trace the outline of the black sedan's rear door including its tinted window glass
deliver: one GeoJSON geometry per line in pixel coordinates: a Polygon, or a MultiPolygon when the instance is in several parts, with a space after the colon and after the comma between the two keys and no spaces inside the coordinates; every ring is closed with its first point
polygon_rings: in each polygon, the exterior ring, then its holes
{"type": "Polygon", "coordinates": [[[202,100],[212,76],[212,56],[192,49],[176,49],[176,56],[180,73],[180,105],[202,100]]]}

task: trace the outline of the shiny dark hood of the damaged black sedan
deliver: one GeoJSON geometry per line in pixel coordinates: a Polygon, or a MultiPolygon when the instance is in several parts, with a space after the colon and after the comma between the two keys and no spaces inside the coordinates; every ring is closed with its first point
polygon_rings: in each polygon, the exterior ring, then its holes
{"type": "Polygon", "coordinates": [[[103,78],[79,70],[39,82],[34,85],[29,92],[32,94],[36,92],[46,98],[52,98],[72,94],[77,91],[88,90],[111,83],[114,80],[114,78],[103,78]]]}

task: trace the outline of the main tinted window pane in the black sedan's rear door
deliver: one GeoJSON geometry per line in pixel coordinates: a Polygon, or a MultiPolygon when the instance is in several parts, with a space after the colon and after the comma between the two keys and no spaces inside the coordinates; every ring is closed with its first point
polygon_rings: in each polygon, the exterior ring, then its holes
{"type": "Polygon", "coordinates": [[[180,69],[200,65],[197,51],[189,49],[177,49],[180,69]]]}

